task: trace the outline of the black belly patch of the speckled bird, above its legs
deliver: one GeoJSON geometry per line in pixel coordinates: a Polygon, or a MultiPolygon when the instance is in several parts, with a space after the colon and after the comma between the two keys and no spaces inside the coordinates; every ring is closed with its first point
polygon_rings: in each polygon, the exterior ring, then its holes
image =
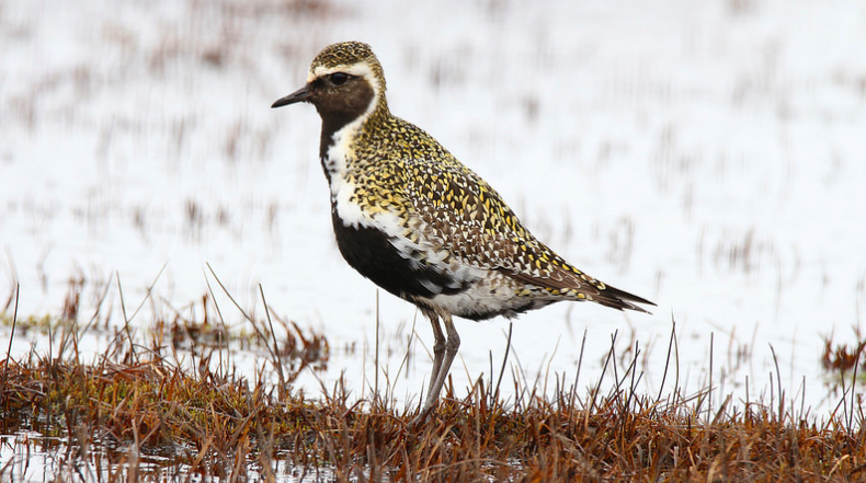
{"type": "Polygon", "coordinates": [[[400,253],[387,234],[368,227],[346,227],[332,210],[337,245],[343,258],[361,275],[404,299],[459,294],[469,287],[423,262],[412,261],[419,253],[400,253]]]}

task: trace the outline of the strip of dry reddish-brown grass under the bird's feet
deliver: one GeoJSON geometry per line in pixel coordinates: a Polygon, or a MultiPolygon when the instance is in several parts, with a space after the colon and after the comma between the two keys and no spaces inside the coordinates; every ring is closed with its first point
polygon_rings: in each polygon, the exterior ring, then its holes
{"type": "MultiPolygon", "coordinates": [[[[276,368],[312,358],[305,350],[321,347],[321,335],[290,333],[290,352],[260,334],[274,344],[266,364],[282,382],[273,383],[230,364],[213,370],[227,346],[191,336],[203,330],[194,321],[170,325],[166,344],[117,332],[92,363],[78,353],[75,325],[55,325],[55,355],[2,363],[0,434],[59,437],[54,450],[69,469],[60,480],[866,481],[864,417],[851,391],[822,421],[795,414],[780,392],[770,404],[711,407],[709,389],[637,393],[633,364],[607,393],[601,382],[579,394],[557,380],[552,396],[517,387],[503,401],[483,379],[463,398],[447,387],[433,417],[412,427],[417,407],[356,402],[340,382],[317,400],[292,390],[290,371],[276,368]],[[198,354],[195,368],[178,363],[175,337],[198,354]]],[[[0,478],[19,476],[16,468],[0,468],[0,478]]]]}

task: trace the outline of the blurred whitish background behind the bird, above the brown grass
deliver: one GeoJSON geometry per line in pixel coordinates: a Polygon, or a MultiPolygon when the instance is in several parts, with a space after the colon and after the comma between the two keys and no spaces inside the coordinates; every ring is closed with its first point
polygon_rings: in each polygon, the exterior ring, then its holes
{"type": "MultiPolygon", "coordinates": [[[[323,332],[337,350],[318,376],[363,394],[376,289],[333,242],[318,116],[270,108],[346,39],[373,45],[391,110],[538,238],[658,302],[523,315],[527,378],[572,380],[585,330],[592,383],[619,331],[654,393],[673,319],[686,391],[711,348],[714,384],[742,396],[748,377],[754,395],[772,346],[788,396],[825,409],[823,337],[853,343],[866,300],[864,1],[0,1],[0,300],[20,283],[20,314],[57,313],[70,277],[116,274],[137,306],[168,264],[155,294],[181,307],[209,263],[246,307],[261,284],[323,332]]],[[[394,377],[417,314],[385,292],[378,311],[394,377]]],[[[458,330],[463,391],[499,365],[508,322],[458,330]]],[[[420,315],[415,331],[429,346],[420,315]]],[[[396,394],[417,401],[430,359],[410,359],[396,394]]]]}

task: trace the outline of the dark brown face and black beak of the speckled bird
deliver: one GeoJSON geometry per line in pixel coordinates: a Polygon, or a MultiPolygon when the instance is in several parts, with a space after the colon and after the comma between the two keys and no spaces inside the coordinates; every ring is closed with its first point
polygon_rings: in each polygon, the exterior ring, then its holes
{"type": "Polygon", "coordinates": [[[374,97],[373,87],[366,79],[337,71],[317,77],[271,107],[308,102],[316,106],[322,123],[335,130],[363,115],[374,97]]]}

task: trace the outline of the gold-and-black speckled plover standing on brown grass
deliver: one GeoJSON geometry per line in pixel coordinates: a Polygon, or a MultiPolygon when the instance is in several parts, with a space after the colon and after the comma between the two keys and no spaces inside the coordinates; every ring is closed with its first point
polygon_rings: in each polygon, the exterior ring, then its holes
{"type": "Polygon", "coordinates": [[[433,368],[415,422],[437,404],[460,345],[454,317],[512,319],[563,300],[649,313],[641,306],[653,302],[591,277],[538,241],[485,180],[391,114],[385,92],[371,46],[342,42],[322,49],[306,84],[271,107],[316,107],[340,253],[430,320],[433,368]]]}

